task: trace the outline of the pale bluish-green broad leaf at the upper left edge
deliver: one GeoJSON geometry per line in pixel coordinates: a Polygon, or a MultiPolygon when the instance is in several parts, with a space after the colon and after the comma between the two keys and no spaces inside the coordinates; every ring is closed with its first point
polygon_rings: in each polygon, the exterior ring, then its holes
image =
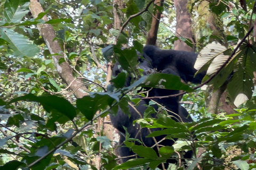
{"type": "Polygon", "coordinates": [[[39,48],[35,44],[32,44],[29,39],[12,29],[0,28],[0,36],[9,43],[13,55],[16,57],[33,57],[39,53],[39,48]]]}

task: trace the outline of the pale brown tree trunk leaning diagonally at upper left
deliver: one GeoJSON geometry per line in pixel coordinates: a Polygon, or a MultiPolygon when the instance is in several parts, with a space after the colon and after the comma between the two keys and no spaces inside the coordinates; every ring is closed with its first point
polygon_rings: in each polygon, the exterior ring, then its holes
{"type": "MultiPolygon", "coordinates": [[[[41,4],[37,0],[30,0],[29,8],[34,18],[37,18],[39,13],[44,12],[41,4]]],[[[46,16],[43,17],[43,20],[48,21],[46,16]]],[[[79,79],[74,81],[73,72],[69,64],[67,62],[59,64],[59,60],[61,58],[65,58],[65,54],[62,52],[57,39],[55,39],[55,31],[52,25],[38,24],[37,27],[40,35],[45,41],[45,44],[49,48],[50,53],[59,54],[53,55],[52,58],[62,80],[64,80],[68,85],[70,84],[70,89],[74,91],[74,94],[77,98],[82,98],[83,96],[87,95],[86,91],[88,90],[85,88],[85,86],[83,86],[83,82],[79,79]]]]}

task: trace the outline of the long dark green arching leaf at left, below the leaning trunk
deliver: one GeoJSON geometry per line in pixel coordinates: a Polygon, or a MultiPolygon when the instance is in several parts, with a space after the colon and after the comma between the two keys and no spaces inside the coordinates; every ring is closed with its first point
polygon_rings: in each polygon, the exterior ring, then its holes
{"type": "MultiPolygon", "coordinates": [[[[62,115],[68,117],[69,120],[73,120],[76,116],[76,110],[73,105],[69,103],[68,100],[58,97],[58,96],[41,96],[37,97],[32,94],[28,94],[25,96],[17,97],[12,99],[10,103],[14,103],[17,101],[35,101],[43,105],[45,111],[47,112],[58,112],[62,115]]],[[[52,117],[57,116],[57,114],[52,114],[52,117]]],[[[65,122],[65,121],[64,121],[65,122]]],[[[63,121],[61,122],[63,123],[63,121]]]]}

